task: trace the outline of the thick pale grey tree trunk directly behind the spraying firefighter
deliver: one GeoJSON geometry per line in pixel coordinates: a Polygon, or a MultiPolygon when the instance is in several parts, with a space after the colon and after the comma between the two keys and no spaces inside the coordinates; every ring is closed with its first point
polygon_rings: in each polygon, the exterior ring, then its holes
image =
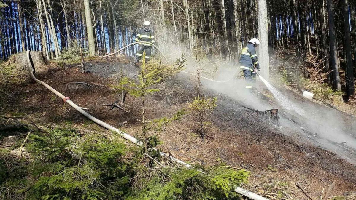
{"type": "Polygon", "coordinates": [[[258,0],[258,35],[260,40],[258,62],[261,66],[261,75],[269,78],[269,54],[268,54],[268,18],[266,0],[258,0]]]}

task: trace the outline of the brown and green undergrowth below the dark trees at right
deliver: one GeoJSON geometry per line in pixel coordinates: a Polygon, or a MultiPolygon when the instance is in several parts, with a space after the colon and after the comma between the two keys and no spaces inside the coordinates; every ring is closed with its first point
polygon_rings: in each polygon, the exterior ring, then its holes
{"type": "MultiPolygon", "coordinates": [[[[315,54],[308,54],[307,61],[295,56],[295,52],[289,48],[279,48],[270,57],[271,79],[274,84],[285,85],[302,92],[307,90],[314,94],[314,98],[326,104],[339,103],[340,97],[345,93],[333,90],[328,84],[328,76],[331,71],[325,72],[324,59],[315,54]]],[[[345,81],[341,81],[345,87],[345,81]]],[[[355,95],[354,95],[355,96],[355,95]]],[[[349,101],[352,104],[353,96],[349,101]]]]}

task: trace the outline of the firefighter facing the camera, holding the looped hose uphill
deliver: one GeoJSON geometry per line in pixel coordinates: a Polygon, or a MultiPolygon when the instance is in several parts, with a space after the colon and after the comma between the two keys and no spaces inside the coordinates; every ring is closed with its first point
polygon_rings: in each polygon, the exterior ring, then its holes
{"type": "MultiPolygon", "coordinates": [[[[155,35],[153,34],[153,31],[150,29],[151,23],[149,21],[145,21],[143,23],[143,28],[137,33],[137,36],[135,38],[136,42],[151,42],[155,44],[155,35]]],[[[146,61],[150,60],[151,57],[151,49],[152,45],[147,44],[147,43],[141,43],[138,46],[138,50],[136,53],[136,63],[140,61],[142,57],[143,51],[146,52],[146,61]]]]}

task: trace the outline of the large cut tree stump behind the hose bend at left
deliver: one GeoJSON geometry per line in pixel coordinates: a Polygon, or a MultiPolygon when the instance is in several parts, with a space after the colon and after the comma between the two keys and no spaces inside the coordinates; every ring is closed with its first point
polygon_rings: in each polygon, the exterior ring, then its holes
{"type": "MultiPolygon", "coordinates": [[[[42,51],[31,52],[31,58],[35,65],[36,72],[45,72],[48,70],[47,60],[43,56],[42,51]]],[[[27,70],[27,58],[26,52],[17,53],[12,56],[6,63],[6,65],[14,64],[17,69],[27,70]]]]}

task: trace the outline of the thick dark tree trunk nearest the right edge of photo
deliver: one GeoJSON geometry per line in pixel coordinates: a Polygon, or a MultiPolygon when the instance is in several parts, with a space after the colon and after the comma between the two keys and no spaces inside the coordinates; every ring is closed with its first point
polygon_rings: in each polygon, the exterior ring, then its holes
{"type": "MultiPolygon", "coordinates": [[[[352,68],[352,52],[350,38],[350,21],[349,21],[349,2],[342,0],[342,15],[344,17],[344,36],[345,36],[345,53],[346,53],[346,95],[347,97],[355,94],[354,69],[352,68]]],[[[355,43],[354,43],[355,45],[355,43]]]]}

